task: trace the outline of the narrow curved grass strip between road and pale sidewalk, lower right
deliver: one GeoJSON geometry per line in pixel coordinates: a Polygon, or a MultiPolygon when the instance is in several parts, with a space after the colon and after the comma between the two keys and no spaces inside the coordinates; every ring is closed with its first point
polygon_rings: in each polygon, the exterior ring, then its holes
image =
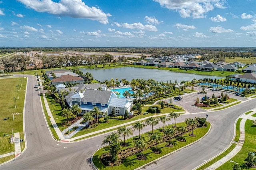
{"type": "MultiPolygon", "coordinates": [[[[240,122],[242,119],[238,119],[238,121],[236,122],[236,136],[234,141],[238,142],[239,136],[240,136],[240,122]]],[[[216,158],[210,160],[209,162],[207,162],[206,164],[204,164],[203,166],[200,166],[199,168],[197,168],[196,170],[204,170],[206,169],[208,166],[211,166],[212,164],[214,164],[215,162],[217,162],[218,160],[220,160],[221,158],[223,158],[224,156],[226,156],[229,152],[231,152],[234,148],[236,147],[235,143],[232,143],[232,145],[225,150],[225,152],[223,152],[222,154],[220,154],[219,156],[217,156],[216,158]]]]}

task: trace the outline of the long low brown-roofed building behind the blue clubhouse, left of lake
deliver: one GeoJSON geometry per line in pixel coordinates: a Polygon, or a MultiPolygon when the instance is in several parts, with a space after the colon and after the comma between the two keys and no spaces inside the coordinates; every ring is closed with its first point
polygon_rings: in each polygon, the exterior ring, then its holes
{"type": "Polygon", "coordinates": [[[58,85],[58,84],[76,84],[76,83],[84,83],[84,79],[81,77],[77,76],[72,76],[72,75],[62,75],[61,77],[58,77],[56,79],[52,79],[52,84],[53,85],[58,85]]]}

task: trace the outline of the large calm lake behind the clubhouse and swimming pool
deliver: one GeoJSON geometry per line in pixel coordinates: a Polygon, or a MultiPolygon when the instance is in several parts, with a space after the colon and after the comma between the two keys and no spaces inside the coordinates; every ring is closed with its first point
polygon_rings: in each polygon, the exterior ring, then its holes
{"type": "Polygon", "coordinates": [[[188,74],[188,73],[177,73],[168,70],[158,70],[158,69],[144,69],[138,67],[118,67],[113,69],[80,69],[84,74],[86,72],[92,73],[94,79],[98,81],[105,81],[105,79],[126,79],[127,81],[132,81],[132,79],[154,79],[155,81],[163,81],[172,83],[177,80],[180,81],[192,81],[192,79],[196,78],[203,79],[205,77],[211,79],[221,79],[223,77],[218,76],[209,76],[209,75],[196,75],[196,74],[188,74]]]}

